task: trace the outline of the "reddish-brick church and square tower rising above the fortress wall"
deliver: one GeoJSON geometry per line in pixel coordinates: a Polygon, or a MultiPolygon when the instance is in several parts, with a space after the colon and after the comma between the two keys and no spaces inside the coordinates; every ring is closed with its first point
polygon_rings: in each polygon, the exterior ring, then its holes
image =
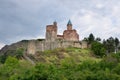
{"type": "Polygon", "coordinates": [[[67,30],[64,30],[63,35],[57,35],[57,22],[46,27],[46,41],[79,41],[79,35],[75,29],[72,29],[72,23],[69,20],[67,23],[67,30]]]}

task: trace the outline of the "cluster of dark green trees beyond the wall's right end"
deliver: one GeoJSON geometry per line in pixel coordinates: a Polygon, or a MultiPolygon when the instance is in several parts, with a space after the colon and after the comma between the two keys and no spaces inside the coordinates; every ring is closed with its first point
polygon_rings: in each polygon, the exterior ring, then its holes
{"type": "Polygon", "coordinates": [[[84,38],[84,41],[88,43],[93,53],[100,57],[110,53],[117,53],[120,50],[120,41],[118,38],[110,37],[101,41],[101,38],[95,38],[91,33],[88,37],[84,38]]]}

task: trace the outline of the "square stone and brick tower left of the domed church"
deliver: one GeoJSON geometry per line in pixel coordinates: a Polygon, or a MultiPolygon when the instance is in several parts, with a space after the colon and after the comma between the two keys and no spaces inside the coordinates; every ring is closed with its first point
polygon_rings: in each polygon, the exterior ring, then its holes
{"type": "Polygon", "coordinates": [[[47,25],[46,27],[46,41],[55,41],[57,38],[57,22],[53,22],[53,25],[47,25]]]}

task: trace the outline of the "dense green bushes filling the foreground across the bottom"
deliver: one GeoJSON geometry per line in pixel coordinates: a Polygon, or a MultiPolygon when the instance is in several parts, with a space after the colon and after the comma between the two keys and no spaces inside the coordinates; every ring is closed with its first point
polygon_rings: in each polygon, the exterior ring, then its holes
{"type": "MultiPolygon", "coordinates": [[[[78,50],[67,49],[75,55],[78,50]]],[[[57,50],[45,51],[44,54],[55,52],[57,50]]],[[[82,62],[76,60],[76,57],[67,57],[61,59],[59,64],[39,62],[33,65],[9,56],[4,64],[0,64],[0,80],[120,80],[120,53],[104,56],[100,61],[87,58],[82,62]]]]}

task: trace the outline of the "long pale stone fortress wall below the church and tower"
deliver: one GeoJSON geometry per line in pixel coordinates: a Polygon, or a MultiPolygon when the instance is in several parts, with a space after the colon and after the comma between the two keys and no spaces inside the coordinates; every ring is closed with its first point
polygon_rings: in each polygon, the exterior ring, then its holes
{"type": "Polygon", "coordinates": [[[31,40],[28,43],[27,53],[35,54],[37,51],[53,50],[55,48],[78,47],[87,48],[86,42],[80,41],[37,41],[31,40]]]}

